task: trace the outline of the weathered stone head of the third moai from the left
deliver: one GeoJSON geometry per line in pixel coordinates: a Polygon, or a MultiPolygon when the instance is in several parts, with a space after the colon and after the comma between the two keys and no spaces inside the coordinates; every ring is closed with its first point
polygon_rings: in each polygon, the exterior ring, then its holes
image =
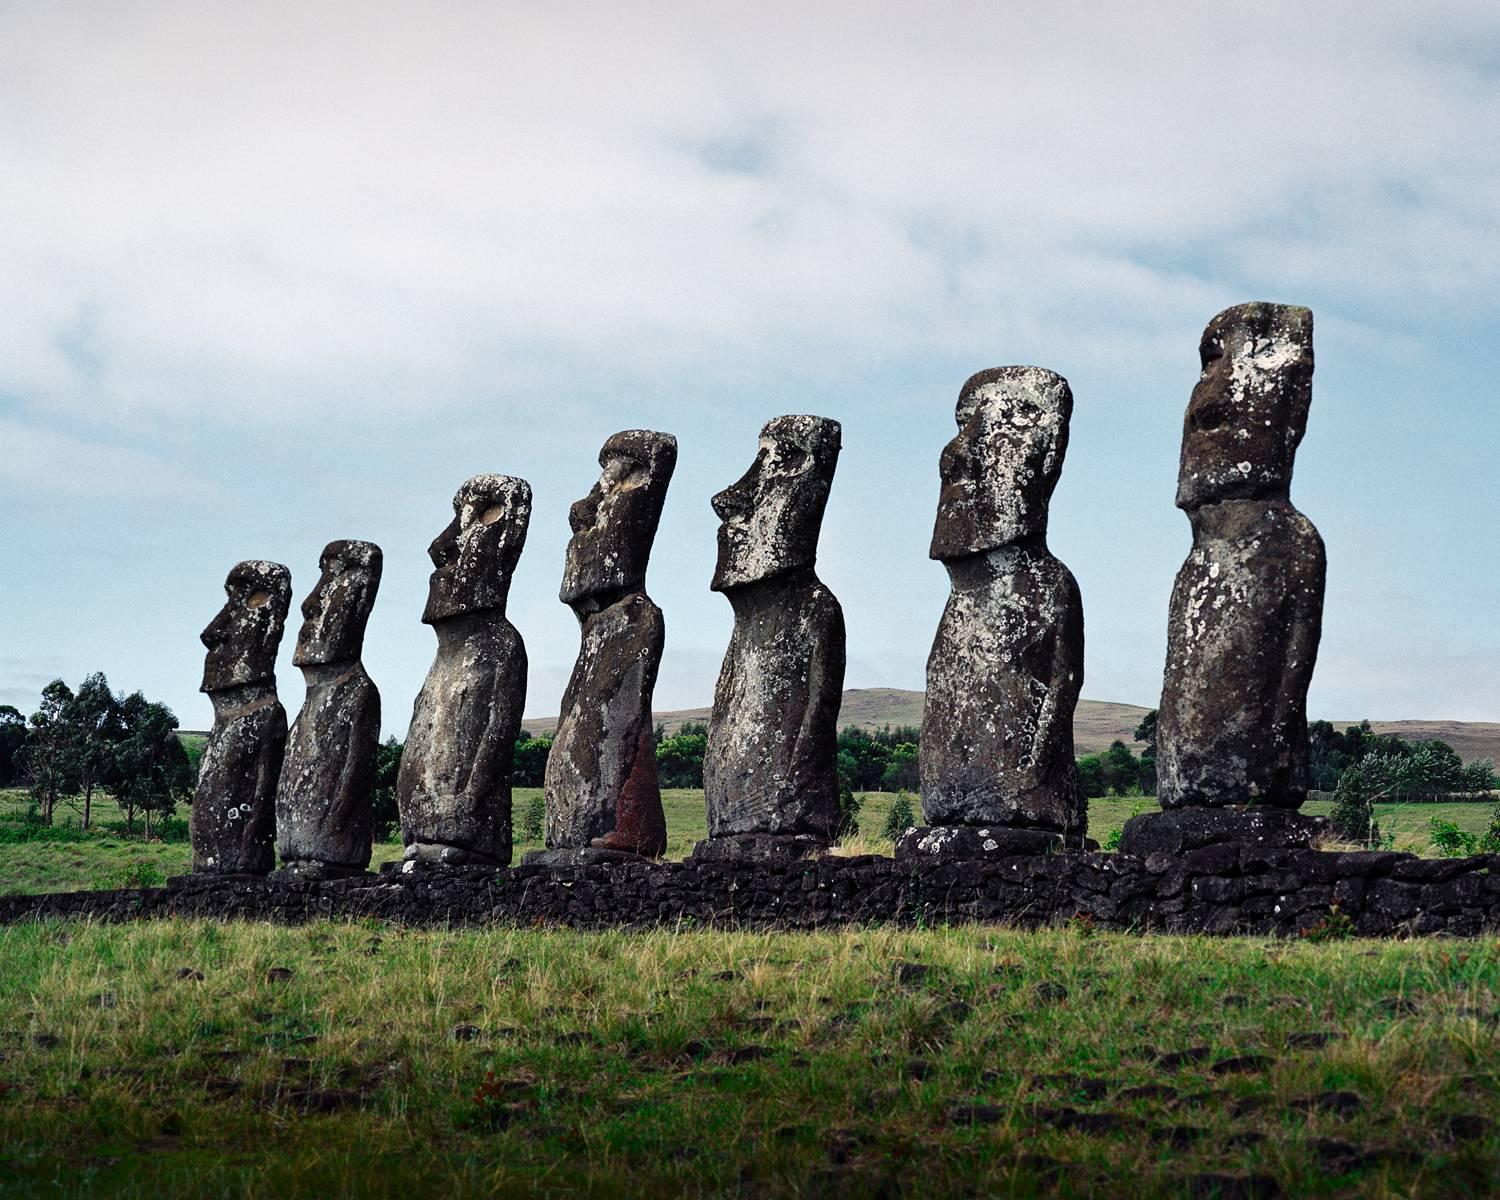
{"type": "Polygon", "coordinates": [[[513,476],[474,476],[453,496],[453,520],[428,548],[429,626],[466,612],[504,609],[510,576],[531,525],[531,484],[513,476]]]}

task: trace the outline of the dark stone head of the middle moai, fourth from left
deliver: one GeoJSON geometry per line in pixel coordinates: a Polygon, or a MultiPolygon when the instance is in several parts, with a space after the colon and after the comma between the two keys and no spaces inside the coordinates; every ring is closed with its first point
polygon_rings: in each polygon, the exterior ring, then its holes
{"type": "Polygon", "coordinates": [[[676,466],[676,438],[648,429],[615,434],[598,452],[598,483],[567,514],[558,598],[579,610],[645,585],[666,486],[676,466]]]}

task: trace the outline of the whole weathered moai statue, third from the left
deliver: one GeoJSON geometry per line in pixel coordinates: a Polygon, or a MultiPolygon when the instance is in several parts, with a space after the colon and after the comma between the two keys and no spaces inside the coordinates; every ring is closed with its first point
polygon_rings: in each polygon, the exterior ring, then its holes
{"type": "Polygon", "coordinates": [[[438,656],[417,694],[396,796],[406,866],[510,862],[510,770],[526,700],[526,646],[506,620],[531,524],[531,484],[474,476],[428,554],[422,620],[438,656]]]}

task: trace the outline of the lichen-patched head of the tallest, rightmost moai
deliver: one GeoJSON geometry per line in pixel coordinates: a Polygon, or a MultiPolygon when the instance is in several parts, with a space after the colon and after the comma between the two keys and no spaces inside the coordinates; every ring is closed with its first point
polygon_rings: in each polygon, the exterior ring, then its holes
{"type": "Polygon", "coordinates": [[[1236,304],[1209,321],[1188,400],[1178,507],[1286,500],[1312,402],[1312,310],[1236,304]]]}

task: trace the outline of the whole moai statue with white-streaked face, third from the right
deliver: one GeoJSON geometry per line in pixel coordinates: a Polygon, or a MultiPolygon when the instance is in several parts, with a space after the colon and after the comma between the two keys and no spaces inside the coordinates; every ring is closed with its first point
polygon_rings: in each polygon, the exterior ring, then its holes
{"type": "Polygon", "coordinates": [[[746,476],[714,496],[712,588],[735,628],[708,722],[708,840],[694,858],[802,858],[837,832],[844,624],[813,561],[838,435],[826,417],[776,417],[746,476]]]}

